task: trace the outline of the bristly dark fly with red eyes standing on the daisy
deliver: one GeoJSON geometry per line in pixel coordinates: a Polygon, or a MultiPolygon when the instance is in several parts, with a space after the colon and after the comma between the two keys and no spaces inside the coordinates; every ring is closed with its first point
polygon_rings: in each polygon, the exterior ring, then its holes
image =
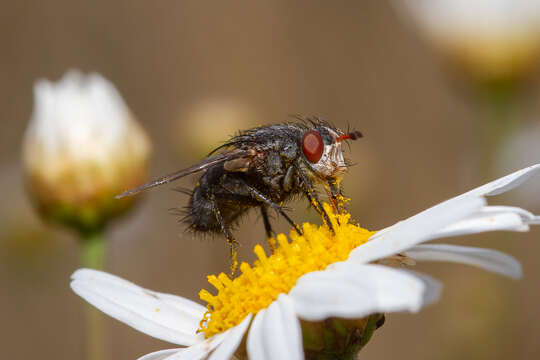
{"type": "Polygon", "coordinates": [[[191,198],[185,221],[196,232],[225,235],[234,274],[237,242],[231,227],[249,209],[260,209],[268,238],[274,236],[268,208],[277,211],[299,234],[302,233],[282,207],[296,194],[304,194],[332,229],[315,190],[316,184],[323,185],[330,202],[340,211],[339,180],[347,170],[341,151],[342,141],[356,140],[362,134],[358,131],[345,133],[318,118],[297,119],[298,122],[241,131],[193,166],[128,190],[117,198],[203,172],[193,191],[189,192],[191,198]]]}

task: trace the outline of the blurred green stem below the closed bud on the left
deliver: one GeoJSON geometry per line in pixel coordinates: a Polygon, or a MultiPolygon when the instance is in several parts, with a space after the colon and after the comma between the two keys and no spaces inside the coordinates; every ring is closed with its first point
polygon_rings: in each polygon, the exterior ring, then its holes
{"type": "MultiPolygon", "coordinates": [[[[103,230],[81,233],[81,261],[85,268],[102,270],[105,260],[105,232],[103,230]]],[[[94,307],[85,304],[86,360],[103,360],[102,315],[94,307]]]]}

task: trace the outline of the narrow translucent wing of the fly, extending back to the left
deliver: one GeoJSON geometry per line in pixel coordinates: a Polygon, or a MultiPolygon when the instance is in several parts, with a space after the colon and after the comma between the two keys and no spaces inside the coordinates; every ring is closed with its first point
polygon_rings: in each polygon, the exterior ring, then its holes
{"type": "Polygon", "coordinates": [[[147,190],[147,189],[159,186],[159,185],[167,184],[171,181],[178,180],[184,176],[206,170],[213,165],[223,163],[229,160],[234,160],[234,159],[239,159],[239,158],[244,158],[244,157],[251,157],[253,155],[255,155],[254,150],[231,150],[227,152],[222,152],[215,156],[207,157],[206,159],[203,159],[188,168],[176,171],[172,174],[162,176],[144,185],[124,191],[123,193],[116,195],[116,198],[121,199],[126,196],[135,195],[135,194],[140,193],[141,191],[144,191],[144,190],[147,190]]]}

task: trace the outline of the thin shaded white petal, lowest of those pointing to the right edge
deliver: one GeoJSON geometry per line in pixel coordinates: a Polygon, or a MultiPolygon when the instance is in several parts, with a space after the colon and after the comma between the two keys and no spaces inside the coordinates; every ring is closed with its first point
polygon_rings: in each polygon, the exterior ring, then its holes
{"type": "Polygon", "coordinates": [[[484,270],[514,279],[521,277],[521,265],[512,256],[502,252],[468,246],[422,244],[405,252],[418,261],[449,261],[478,266],[484,270]]]}

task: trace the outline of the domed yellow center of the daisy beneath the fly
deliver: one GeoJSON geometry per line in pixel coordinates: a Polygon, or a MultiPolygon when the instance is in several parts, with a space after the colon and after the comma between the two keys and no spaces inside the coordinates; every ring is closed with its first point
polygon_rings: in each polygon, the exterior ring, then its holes
{"type": "Polygon", "coordinates": [[[253,266],[242,263],[241,274],[235,279],[224,273],[208,276],[217,294],[212,295],[207,290],[199,293],[201,300],[208,303],[199,331],[208,338],[238,325],[248,314],[268,307],[279,294],[288,293],[302,275],[346,260],[354,248],[375,233],[350,223],[351,215],[345,211],[337,214],[328,204],[324,204],[324,208],[335,234],[326,225],[304,223],[303,235],[291,230],[291,241],[279,234],[279,246],[270,256],[262,246],[256,245],[254,252],[258,260],[253,266]]]}

